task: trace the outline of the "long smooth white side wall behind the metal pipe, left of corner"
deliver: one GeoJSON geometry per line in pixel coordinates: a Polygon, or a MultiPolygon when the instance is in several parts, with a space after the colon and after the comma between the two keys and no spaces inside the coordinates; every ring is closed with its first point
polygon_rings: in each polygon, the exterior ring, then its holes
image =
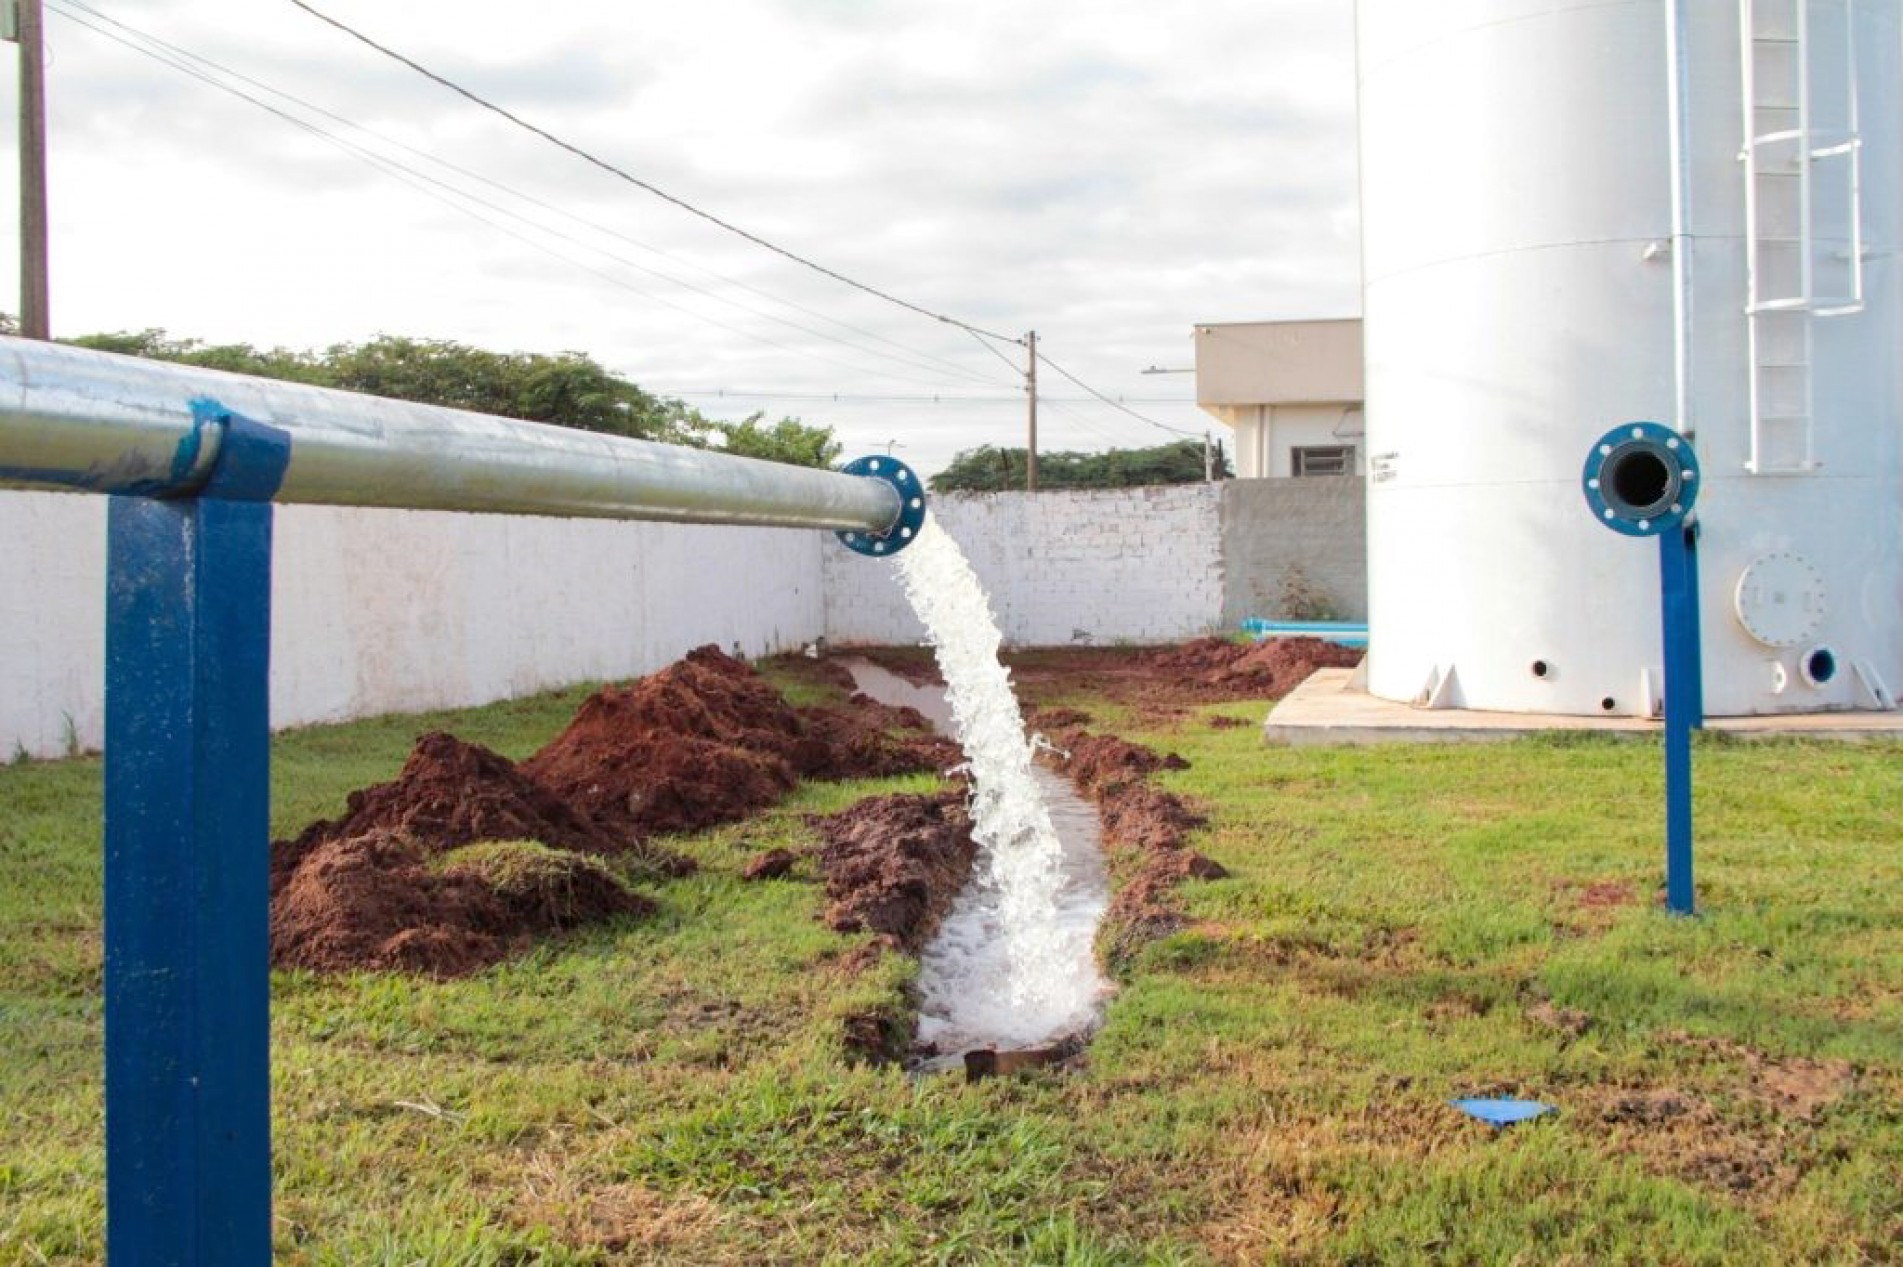
{"type": "MultiPolygon", "coordinates": [[[[105,498],[0,493],[0,759],[105,732],[105,498]]],[[[280,506],[274,727],[461,708],[824,628],[826,533],[280,506]]]]}

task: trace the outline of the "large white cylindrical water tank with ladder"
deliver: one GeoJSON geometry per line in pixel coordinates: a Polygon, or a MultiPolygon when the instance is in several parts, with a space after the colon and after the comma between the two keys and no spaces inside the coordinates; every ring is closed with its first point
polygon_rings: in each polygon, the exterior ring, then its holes
{"type": "Polygon", "coordinates": [[[1658,548],[1579,479],[1659,420],[1703,468],[1705,710],[1893,706],[1899,6],[1357,0],[1374,694],[1654,713],[1658,548]]]}

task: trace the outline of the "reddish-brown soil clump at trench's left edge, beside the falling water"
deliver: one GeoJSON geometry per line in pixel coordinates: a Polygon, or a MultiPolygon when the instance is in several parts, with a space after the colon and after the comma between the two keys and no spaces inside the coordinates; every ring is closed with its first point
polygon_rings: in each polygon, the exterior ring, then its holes
{"type": "Polygon", "coordinates": [[[813,826],[826,841],[826,925],[906,949],[938,928],[978,856],[963,791],[868,797],[813,826]]]}

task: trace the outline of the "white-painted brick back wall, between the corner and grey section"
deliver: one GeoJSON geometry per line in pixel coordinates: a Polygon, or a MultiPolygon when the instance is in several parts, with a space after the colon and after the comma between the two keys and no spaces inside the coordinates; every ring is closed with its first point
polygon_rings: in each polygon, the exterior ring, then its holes
{"type": "MultiPolygon", "coordinates": [[[[1222,620],[1222,485],[932,498],[991,595],[1007,643],[1163,643],[1222,620]]],[[[826,637],[910,643],[925,635],[894,563],[828,552],[826,637]]]]}

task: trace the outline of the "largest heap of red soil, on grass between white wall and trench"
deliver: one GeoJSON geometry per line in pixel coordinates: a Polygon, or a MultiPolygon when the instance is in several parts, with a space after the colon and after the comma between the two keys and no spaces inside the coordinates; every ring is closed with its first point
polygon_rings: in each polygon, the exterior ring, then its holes
{"type": "Polygon", "coordinates": [[[702,647],[628,687],[590,696],[520,769],[426,734],[388,784],[350,793],[343,818],[272,848],[272,963],[457,976],[539,934],[653,909],[592,858],[651,877],[693,862],[655,831],[744,818],[801,776],[932,770],[957,750],[925,719],[870,700],[794,710],[746,664],[702,647]],[[908,734],[889,736],[887,729],[908,734]],[[518,856],[441,854],[535,841],[518,856]]]}

